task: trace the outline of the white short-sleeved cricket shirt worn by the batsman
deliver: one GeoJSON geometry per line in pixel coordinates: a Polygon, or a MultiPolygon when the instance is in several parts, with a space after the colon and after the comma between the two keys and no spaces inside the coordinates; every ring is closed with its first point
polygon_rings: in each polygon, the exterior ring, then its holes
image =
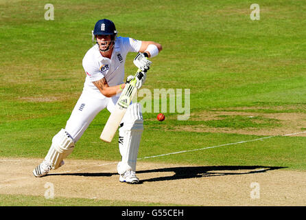
{"type": "Polygon", "coordinates": [[[82,62],[86,73],[83,91],[89,92],[93,96],[105,98],[106,96],[93,85],[93,82],[105,78],[110,87],[123,83],[126,54],[128,52],[139,52],[140,47],[141,41],[118,36],[110,59],[102,56],[97,44],[91,47],[86,52],[82,62]]]}

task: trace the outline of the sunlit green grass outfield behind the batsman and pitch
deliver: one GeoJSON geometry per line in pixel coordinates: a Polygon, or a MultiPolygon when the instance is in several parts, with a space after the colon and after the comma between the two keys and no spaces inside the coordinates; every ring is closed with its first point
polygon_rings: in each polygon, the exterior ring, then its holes
{"type": "MultiPolygon", "coordinates": [[[[0,0],[0,156],[45,157],[51,138],[65,126],[82,92],[82,58],[92,46],[91,30],[98,19],[108,18],[115,22],[119,36],[163,45],[163,52],[152,58],[145,88],[191,91],[187,121],[176,120],[178,113],[165,113],[164,122],[154,120],[157,113],[143,113],[139,158],[190,151],[143,160],[305,170],[305,137],[276,135],[191,151],[269,136],[193,131],[202,125],[211,129],[280,126],[278,120],[268,118],[202,120],[198,115],[203,111],[248,108],[253,113],[306,113],[306,3],[256,1],[259,21],[250,19],[252,3],[0,0]],[[44,19],[46,3],[54,5],[54,21],[44,19]],[[182,129],[185,126],[190,131],[182,129]]],[[[126,76],[135,72],[134,55],[128,55],[126,76]]],[[[117,141],[99,140],[108,115],[107,111],[97,115],[69,158],[120,159],[117,141]]],[[[22,200],[23,205],[38,203],[33,202],[35,197],[1,195],[2,199],[1,206],[21,204],[15,200],[22,200]]],[[[93,201],[80,203],[95,205],[93,201]]],[[[120,206],[112,201],[99,205],[120,206]]]]}

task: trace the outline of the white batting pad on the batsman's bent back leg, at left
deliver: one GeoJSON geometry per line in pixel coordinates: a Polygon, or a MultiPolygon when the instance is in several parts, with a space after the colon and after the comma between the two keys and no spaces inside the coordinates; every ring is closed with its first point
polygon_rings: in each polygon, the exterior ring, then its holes
{"type": "Polygon", "coordinates": [[[52,144],[45,160],[50,163],[52,168],[59,168],[62,160],[72,153],[74,146],[74,142],[67,131],[61,129],[52,138],[52,144]]]}

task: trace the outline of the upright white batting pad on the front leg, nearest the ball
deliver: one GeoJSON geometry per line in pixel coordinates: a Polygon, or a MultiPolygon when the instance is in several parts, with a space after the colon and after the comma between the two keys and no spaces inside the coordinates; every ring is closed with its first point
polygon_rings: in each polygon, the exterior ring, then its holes
{"type": "Polygon", "coordinates": [[[130,104],[123,117],[123,126],[119,128],[119,151],[121,162],[117,170],[123,174],[126,170],[136,171],[137,155],[143,133],[143,116],[139,103],[130,104]]]}

